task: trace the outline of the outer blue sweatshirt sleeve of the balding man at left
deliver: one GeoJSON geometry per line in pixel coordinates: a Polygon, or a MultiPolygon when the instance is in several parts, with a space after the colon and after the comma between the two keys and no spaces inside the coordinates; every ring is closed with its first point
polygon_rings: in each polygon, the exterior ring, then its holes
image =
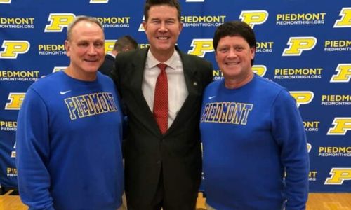
{"type": "Polygon", "coordinates": [[[37,92],[29,87],[18,113],[16,165],[18,190],[29,209],[53,209],[50,195],[48,109],[37,92]]]}

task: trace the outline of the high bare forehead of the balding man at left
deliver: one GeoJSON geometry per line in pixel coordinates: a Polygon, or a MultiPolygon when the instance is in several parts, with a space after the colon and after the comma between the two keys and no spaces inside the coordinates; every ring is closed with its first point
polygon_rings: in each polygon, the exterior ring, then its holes
{"type": "Polygon", "coordinates": [[[75,40],[81,40],[86,38],[104,39],[104,33],[99,25],[95,22],[89,22],[82,20],[77,22],[72,28],[71,38],[75,40]]]}

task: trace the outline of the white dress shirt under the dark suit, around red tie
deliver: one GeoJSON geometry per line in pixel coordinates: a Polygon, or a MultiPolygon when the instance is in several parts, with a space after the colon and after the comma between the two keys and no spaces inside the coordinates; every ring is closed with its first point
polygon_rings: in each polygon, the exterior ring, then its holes
{"type": "MultiPolygon", "coordinates": [[[[154,108],[154,88],[156,85],[157,77],[161,70],[157,67],[160,62],[147,52],[147,59],[145,62],[145,71],[142,84],[142,90],[150,110],[154,108]]],[[[173,55],[166,61],[166,73],[168,80],[168,128],[171,127],[178,111],[183,106],[187,98],[187,86],[183,73],[183,64],[180,60],[177,50],[174,50],[173,55]]]]}

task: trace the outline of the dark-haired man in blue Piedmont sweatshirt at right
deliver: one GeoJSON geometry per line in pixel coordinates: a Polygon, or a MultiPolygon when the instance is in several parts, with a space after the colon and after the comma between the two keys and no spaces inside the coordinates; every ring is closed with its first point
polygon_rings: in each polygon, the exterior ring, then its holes
{"type": "Polygon", "coordinates": [[[220,25],[213,48],[224,79],[206,87],[201,109],[208,209],[305,209],[309,157],[295,100],[253,73],[245,22],[220,25]]]}

